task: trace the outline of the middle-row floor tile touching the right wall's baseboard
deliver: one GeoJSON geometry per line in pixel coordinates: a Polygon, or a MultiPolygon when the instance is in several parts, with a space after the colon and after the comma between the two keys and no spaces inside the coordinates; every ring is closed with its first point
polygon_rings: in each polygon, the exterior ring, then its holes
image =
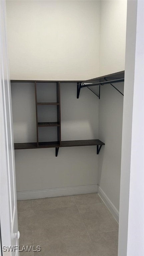
{"type": "Polygon", "coordinates": [[[103,203],[80,205],[78,209],[89,234],[118,230],[116,220],[103,203]]]}

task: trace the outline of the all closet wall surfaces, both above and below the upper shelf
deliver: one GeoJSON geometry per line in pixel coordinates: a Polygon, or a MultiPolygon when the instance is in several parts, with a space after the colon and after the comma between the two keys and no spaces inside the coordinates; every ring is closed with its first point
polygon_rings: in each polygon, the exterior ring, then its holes
{"type": "MultiPolygon", "coordinates": [[[[7,1],[7,23],[11,79],[77,80],[124,70],[126,1],[7,1]]],[[[15,142],[36,140],[33,93],[32,86],[12,91],[15,142]]],[[[122,107],[111,86],[101,88],[99,102],[87,88],[77,100],[76,85],[62,84],[62,140],[106,145],[99,156],[95,146],[61,148],[58,158],[54,149],[15,151],[17,190],[98,184],[99,157],[99,185],[118,209],[122,107]]]]}

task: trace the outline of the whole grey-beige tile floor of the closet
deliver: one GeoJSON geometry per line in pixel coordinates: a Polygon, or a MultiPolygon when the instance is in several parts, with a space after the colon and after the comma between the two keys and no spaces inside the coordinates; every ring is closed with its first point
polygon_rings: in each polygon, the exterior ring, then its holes
{"type": "Polygon", "coordinates": [[[118,224],[97,193],[17,202],[20,256],[117,256],[118,224]]]}

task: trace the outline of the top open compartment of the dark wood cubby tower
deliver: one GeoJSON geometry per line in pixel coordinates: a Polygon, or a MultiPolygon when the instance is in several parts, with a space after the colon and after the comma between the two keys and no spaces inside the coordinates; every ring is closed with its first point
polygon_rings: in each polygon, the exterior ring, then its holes
{"type": "Polygon", "coordinates": [[[57,105],[57,83],[36,83],[37,104],[57,105]]]}

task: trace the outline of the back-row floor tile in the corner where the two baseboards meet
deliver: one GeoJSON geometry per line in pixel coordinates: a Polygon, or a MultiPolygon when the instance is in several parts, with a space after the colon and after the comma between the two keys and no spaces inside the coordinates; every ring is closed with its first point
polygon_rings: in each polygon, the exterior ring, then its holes
{"type": "Polygon", "coordinates": [[[76,205],[102,203],[102,200],[98,195],[98,193],[74,195],[74,199],[75,199],[76,205]]]}

